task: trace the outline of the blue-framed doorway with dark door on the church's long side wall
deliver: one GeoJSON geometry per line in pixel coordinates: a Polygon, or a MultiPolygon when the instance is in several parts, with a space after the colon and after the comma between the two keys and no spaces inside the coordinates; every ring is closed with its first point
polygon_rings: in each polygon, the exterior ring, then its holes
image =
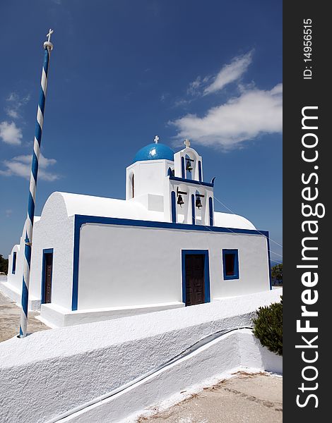
{"type": "Polygon", "coordinates": [[[182,250],[182,298],[186,306],[210,301],[207,250],[182,250]]]}

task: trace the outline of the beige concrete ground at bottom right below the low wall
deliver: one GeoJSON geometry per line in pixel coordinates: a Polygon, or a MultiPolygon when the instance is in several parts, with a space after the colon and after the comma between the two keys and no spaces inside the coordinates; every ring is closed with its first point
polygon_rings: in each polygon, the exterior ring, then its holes
{"type": "Polygon", "coordinates": [[[278,423],[283,421],[283,379],[240,372],[138,423],[278,423]]]}

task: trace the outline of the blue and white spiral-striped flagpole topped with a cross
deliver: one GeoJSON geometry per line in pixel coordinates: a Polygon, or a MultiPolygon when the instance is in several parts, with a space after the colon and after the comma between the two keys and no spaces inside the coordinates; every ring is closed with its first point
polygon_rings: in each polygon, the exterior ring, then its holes
{"type": "Polygon", "coordinates": [[[35,198],[38,175],[38,162],[40,157],[40,142],[42,141],[42,124],[44,122],[45,98],[47,91],[47,73],[49,71],[49,56],[53,49],[50,42],[53,30],[47,34],[48,40],[44,43],[44,63],[42,66],[42,80],[40,82],[40,98],[37,109],[37,121],[35,129],[35,140],[33,143],[32,166],[30,174],[30,192],[28,202],[28,216],[25,222],[25,249],[24,249],[24,267],[22,283],[22,309],[20,312],[20,338],[27,335],[28,326],[28,302],[29,302],[29,282],[30,282],[30,260],[32,247],[33,216],[35,216],[35,198]]]}

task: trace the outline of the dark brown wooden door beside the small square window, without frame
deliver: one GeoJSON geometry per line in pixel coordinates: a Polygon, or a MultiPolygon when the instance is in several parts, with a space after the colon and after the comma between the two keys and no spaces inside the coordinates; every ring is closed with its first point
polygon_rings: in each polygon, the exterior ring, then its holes
{"type": "Polygon", "coordinates": [[[203,304],[204,300],[204,255],[186,255],[186,305],[203,304]]]}

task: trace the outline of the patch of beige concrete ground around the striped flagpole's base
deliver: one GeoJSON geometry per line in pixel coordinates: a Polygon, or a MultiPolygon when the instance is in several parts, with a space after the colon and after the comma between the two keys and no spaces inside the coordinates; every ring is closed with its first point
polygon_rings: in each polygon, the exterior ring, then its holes
{"type": "MultiPolygon", "coordinates": [[[[28,333],[45,331],[48,326],[35,319],[38,312],[28,314],[28,333]]],[[[20,331],[20,307],[10,298],[0,293],[0,342],[13,338],[20,331]]]]}

